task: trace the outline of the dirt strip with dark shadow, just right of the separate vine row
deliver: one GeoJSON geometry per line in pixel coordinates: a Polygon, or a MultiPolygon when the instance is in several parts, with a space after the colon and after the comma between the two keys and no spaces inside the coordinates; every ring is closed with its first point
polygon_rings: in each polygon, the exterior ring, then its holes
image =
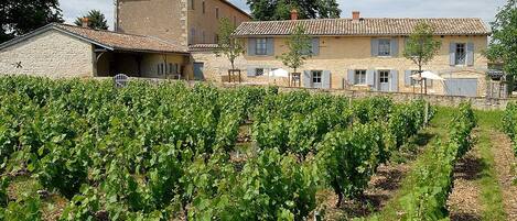
{"type": "Polygon", "coordinates": [[[476,150],[472,150],[454,168],[454,188],[449,196],[448,208],[452,221],[482,220],[480,184],[477,179],[483,162],[476,150]]]}

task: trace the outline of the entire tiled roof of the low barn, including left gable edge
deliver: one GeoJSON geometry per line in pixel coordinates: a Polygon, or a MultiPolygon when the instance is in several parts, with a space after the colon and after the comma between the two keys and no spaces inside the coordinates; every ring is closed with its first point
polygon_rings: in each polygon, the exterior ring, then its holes
{"type": "Polygon", "coordinates": [[[22,35],[3,44],[0,49],[25,41],[30,37],[39,35],[50,30],[55,30],[64,34],[89,42],[94,45],[104,47],[109,51],[126,52],[148,52],[148,53],[187,53],[185,46],[173,44],[152,36],[121,34],[111,31],[86,29],[80,26],[52,23],[43,26],[34,32],[22,35]]]}

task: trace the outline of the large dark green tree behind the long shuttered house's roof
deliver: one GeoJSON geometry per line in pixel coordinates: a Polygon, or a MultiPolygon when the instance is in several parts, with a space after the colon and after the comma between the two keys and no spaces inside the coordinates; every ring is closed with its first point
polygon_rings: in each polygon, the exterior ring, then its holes
{"type": "Polygon", "coordinates": [[[257,21],[289,20],[297,9],[300,19],[335,19],[341,10],[335,0],[247,0],[257,21]]]}

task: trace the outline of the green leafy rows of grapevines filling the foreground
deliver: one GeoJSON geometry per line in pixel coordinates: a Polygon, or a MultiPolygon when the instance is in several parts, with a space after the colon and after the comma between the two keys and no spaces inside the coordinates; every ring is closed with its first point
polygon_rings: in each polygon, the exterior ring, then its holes
{"type": "MultiPolygon", "coordinates": [[[[517,107],[505,126],[517,134],[517,107]],[[510,121],[511,119],[513,121],[510,121]]],[[[304,220],[317,192],[360,198],[434,114],[422,100],[278,88],[0,78],[0,220],[304,220]],[[20,177],[37,192],[10,197],[20,177]]],[[[454,165],[473,146],[462,104],[448,140],[417,162],[401,220],[446,218],[454,165]]],[[[364,218],[366,219],[366,218],[364,218]]],[[[369,220],[383,220],[374,214],[369,220]]]]}

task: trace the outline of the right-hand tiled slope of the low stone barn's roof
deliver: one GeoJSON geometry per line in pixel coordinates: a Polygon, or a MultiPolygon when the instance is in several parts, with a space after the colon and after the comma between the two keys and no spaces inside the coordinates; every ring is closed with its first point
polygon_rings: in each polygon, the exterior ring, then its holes
{"type": "Polygon", "coordinates": [[[116,51],[187,53],[185,46],[173,44],[152,36],[121,34],[111,31],[85,29],[67,24],[53,24],[55,27],[80,37],[111,47],[116,51]]]}

